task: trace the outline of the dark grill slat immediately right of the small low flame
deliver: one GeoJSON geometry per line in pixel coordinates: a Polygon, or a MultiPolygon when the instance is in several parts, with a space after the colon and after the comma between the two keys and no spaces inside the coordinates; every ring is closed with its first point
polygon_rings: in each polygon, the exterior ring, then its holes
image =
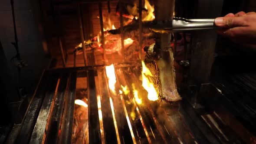
{"type": "Polygon", "coordinates": [[[101,144],[94,70],[87,71],[89,144],[101,144]]]}

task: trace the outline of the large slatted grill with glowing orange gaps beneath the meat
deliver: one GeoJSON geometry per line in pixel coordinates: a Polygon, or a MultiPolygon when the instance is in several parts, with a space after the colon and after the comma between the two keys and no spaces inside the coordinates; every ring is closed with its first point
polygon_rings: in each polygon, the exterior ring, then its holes
{"type": "MultiPolygon", "coordinates": [[[[142,104],[135,101],[131,92],[113,95],[104,66],[46,70],[22,124],[13,128],[7,143],[243,143],[225,119],[220,118],[223,114],[232,118],[229,113],[197,111],[190,105],[187,94],[182,95],[182,101],[149,101],[137,79],[140,66],[115,65],[115,68],[116,92],[121,90],[120,85],[127,85],[130,90],[133,85],[141,95],[142,104]],[[81,96],[81,88],[88,107],[74,104],[81,96]],[[84,108],[82,115],[86,119],[82,128],[77,128],[79,134],[75,130],[79,125],[75,118],[77,108],[84,108]]],[[[211,85],[203,89],[217,94],[211,85]]],[[[194,93],[191,90],[190,96],[194,93]]]]}

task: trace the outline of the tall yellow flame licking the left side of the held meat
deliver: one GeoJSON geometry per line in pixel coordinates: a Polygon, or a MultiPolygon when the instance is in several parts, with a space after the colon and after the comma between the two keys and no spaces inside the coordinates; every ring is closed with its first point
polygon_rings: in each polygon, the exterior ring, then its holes
{"type": "Polygon", "coordinates": [[[154,88],[153,83],[151,83],[148,79],[148,76],[153,76],[150,70],[146,67],[144,61],[142,63],[142,86],[145,88],[145,90],[148,91],[148,99],[150,101],[156,101],[158,100],[158,93],[156,89],[154,88]]]}

